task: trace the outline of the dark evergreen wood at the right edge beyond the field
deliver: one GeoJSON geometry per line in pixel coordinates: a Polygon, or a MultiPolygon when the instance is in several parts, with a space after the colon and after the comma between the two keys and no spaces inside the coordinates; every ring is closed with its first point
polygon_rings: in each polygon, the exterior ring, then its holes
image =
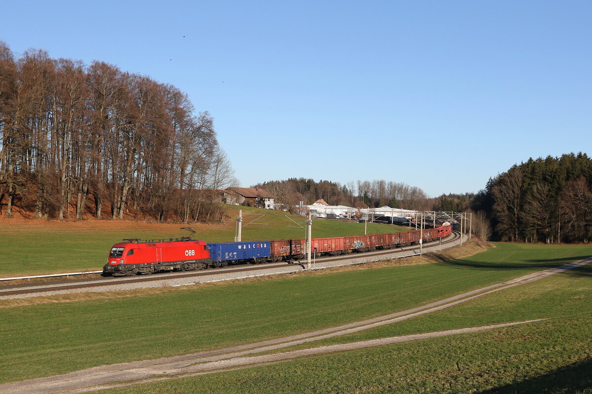
{"type": "Polygon", "coordinates": [[[471,206],[513,242],[588,242],[592,159],[584,153],[532,159],[491,178],[471,206]]]}

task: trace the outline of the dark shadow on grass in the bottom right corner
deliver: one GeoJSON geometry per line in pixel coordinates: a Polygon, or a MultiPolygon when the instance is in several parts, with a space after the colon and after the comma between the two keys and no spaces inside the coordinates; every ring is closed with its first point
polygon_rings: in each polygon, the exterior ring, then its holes
{"type": "Polygon", "coordinates": [[[485,390],[478,394],[559,394],[592,392],[592,359],[576,362],[568,366],[530,377],[511,385],[485,390]]]}

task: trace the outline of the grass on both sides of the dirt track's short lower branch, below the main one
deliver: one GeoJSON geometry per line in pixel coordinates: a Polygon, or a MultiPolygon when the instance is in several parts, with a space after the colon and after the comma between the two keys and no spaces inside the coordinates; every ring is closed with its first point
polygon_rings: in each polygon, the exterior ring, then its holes
{"type": "Polygon", "coordinates": [[[299,347],[549,318],[545,321],[101,393],[590,394],[591,276],[590,267],[575,269],[448,310],[299,347]]]}

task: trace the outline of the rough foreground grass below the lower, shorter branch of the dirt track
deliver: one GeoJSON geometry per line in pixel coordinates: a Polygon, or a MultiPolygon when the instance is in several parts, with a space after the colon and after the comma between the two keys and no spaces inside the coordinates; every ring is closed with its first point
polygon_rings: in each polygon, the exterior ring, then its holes
{"type": "Polygon", "coordinates": [[[100,393],[589,394],[591,317],[585,314],[100,393]]]}

